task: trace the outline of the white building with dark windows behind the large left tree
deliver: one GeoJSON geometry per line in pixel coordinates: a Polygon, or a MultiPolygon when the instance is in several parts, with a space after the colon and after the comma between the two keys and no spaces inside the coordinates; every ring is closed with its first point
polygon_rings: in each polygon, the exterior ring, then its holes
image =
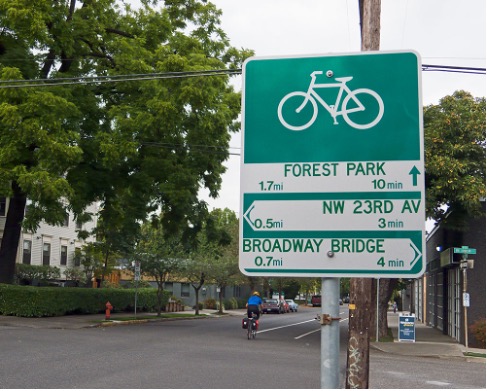
{"type": "MultiPolygon", "coordinates": [[[[5,220],[8,211],[8,198],[0,197],[0,237],[3,237],[5,220]]],[[[74,220],[72,213],[66,216],[62,226],[52,226],[42,222],[35,232],[23,231],[19,240],[17,263],[28,265],[49,265],[61,269],[61,275],[67,267],[79,266],[74,264],[74,253],[85,243],[95,241],[94,236],[86,240],[78,239],[78,231],[91,232],[97,224],[98,205],[92,204],[87,212],[93,215],[93,220],[80,225],[74,220]]]]}

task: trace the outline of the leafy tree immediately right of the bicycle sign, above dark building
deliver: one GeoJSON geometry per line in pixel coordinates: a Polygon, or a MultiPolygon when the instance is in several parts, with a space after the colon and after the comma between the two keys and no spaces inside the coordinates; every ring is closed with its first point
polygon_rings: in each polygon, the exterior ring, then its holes
{"type": "Polygon", "coordinates": [[[456,91],[426,106],[424,132],[427,216],[462,228],[483,212],[485,98],[456,91]]]}

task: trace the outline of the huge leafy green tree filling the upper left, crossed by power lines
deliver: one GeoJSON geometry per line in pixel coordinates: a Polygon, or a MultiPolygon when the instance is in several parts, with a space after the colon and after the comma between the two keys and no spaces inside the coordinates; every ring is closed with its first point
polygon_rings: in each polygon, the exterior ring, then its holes
{"type": "Polygon", "coordinates": [[[0,282],[12,280],[22,223],[59,224],[67,209],[88,219],[85,207],[98,201],[112,254],[133,245],[138,222],[157,209],[168,232],[183,221],[196,231],[200,188],[217,196],[239,94],[226,74],[181,76],[236,68],[250,53],[229,46],[211,3],[140,3],[0,0],[2,80],[74,78],[0,92],[0,193],[10,198],[0,282]],[[87,76],[105,79],[75,81],[87,76]]]}

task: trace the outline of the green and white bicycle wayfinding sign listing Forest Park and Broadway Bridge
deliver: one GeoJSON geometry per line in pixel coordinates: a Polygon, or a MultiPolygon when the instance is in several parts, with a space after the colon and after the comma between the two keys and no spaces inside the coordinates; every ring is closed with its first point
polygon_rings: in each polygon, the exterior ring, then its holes
{"type": "Polygon", "coordinates": [[[243,273],[423,273],[420,76],[415,52],[245,62],[243,273]]]}

